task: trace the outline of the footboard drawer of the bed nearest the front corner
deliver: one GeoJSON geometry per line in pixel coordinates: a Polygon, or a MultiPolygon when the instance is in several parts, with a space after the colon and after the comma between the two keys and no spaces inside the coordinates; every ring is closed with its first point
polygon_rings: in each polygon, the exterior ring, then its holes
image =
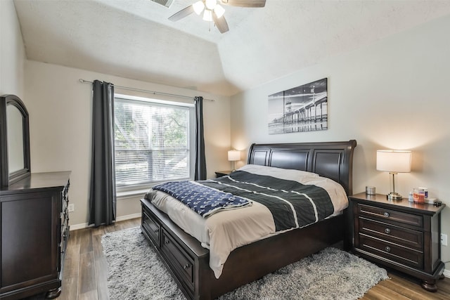
{"type": "Polygon", "coordinates": [[[178,273],[177,277],[183,281],[181,284],[193,292],[193,259],[164,228],[161,235],[161,251],[165,253],[172,270],[178,273]]]}

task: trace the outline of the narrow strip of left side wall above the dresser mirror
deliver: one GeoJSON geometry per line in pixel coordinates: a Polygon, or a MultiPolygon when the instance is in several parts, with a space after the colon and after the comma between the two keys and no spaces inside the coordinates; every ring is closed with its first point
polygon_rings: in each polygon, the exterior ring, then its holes
{"type": "Polygon", "coordinates": [[[0,37],[0,95],[23,98],[25,47],[12,0],[0,1],[0,37]]]}

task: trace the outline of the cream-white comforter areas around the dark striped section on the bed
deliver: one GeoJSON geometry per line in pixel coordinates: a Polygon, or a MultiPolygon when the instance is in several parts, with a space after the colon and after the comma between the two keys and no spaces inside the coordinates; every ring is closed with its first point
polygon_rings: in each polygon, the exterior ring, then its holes
{"type": "MultiPolygon", "coordinates": [[[[248,164],[239,170],[320,186],[330,195],[334,207],[333,216],[341,214],[348,206],[344,188],[339,183],[317,174],[254,164],[248,164]]],[[[210,249],[210,268],[216,278],[221,275],[224,263],[233,249],[281,233],[275,231],[274,219],[269,209],[255,201],[250,207],[221,211],[203,219],[166,193],[150,190],[146,197],[186,233],[199,240],[203,247],[210,249]]]]}

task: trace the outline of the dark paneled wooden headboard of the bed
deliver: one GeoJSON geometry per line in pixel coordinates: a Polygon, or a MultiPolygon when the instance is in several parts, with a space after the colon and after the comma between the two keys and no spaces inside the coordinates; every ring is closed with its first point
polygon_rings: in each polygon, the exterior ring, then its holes
{"type": "Polygon", "coordinates": [[[252,144],[248,164],[297,169],[328,177],[352,195],[353,150],[356,140],[319,143],[252,144]]]}

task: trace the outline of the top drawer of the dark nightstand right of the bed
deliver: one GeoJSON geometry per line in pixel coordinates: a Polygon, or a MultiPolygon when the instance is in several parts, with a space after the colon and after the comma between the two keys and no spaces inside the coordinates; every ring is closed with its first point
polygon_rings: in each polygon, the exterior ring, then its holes
{"type": "Polygon", "coordinates": [[[358,204],[357,213],[361,216],[373,216],[385,221],[395,221],[423,228],[423,216],[416,214],[407,214],[392,209],[384,209],[383,207],[373,207],[371,205],[358,204]]]}

